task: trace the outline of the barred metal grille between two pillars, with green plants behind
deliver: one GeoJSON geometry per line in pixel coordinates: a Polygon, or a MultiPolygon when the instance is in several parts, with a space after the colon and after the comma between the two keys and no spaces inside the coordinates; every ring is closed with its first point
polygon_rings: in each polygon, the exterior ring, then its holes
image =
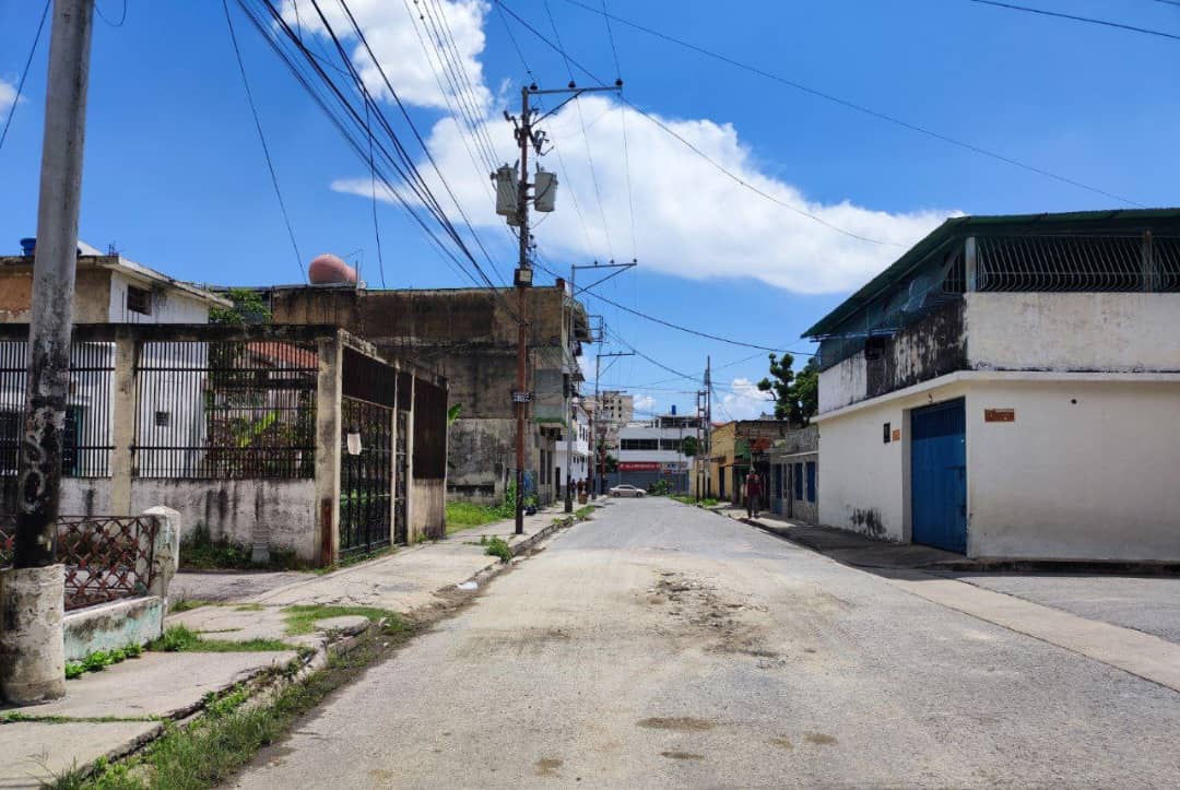
{"type": "Polygon", "coordinates": [[[317,374],[310,341],[144,342],[133,474],[313,477],[317,374]],[[159,411],[170,413],[164,424],[159,411]]]}

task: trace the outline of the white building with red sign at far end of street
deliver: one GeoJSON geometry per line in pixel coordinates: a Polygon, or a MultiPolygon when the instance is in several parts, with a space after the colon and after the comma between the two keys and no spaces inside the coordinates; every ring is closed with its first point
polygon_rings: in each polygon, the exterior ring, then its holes
{"type": "MultiPolygon", "coordinates": [[[[630,396],[628,396],[630,398],[630,396]]],[[[666,481],[673,491],[688,491],[688,457],[684,439],[696,437],[700,418],[658,414],[632,422],[618,430],[618,472],[608,476],[608,484],[630,483],[647,489],[666,481]]]]}

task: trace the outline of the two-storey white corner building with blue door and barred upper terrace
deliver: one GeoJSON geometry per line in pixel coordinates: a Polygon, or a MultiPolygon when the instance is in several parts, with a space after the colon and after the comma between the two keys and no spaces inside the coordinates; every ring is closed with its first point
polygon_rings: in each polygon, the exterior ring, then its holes
{"type": "Polygon", "coordinates": [[[805,337],[824,523],[1180,560],[1180,210],[949,220],[805,337]]]}

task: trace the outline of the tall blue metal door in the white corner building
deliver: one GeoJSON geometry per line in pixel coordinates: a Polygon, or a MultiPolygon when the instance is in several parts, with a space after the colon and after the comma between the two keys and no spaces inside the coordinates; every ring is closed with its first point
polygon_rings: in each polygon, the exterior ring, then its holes
{"type": "Polygon", "coordinates": [[[966,551],[966,412],[963,399],[914,410],[910,425],[913,542],[966,551]]]}

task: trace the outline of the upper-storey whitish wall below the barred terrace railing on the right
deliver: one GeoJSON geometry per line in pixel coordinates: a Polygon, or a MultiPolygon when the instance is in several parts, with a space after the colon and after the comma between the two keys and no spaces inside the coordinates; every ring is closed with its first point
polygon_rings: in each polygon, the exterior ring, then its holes
{"type": "Polygon", "coordinates": [[[976,370],[1180,371],[1180,294],[969,293],[976,370]]]}

